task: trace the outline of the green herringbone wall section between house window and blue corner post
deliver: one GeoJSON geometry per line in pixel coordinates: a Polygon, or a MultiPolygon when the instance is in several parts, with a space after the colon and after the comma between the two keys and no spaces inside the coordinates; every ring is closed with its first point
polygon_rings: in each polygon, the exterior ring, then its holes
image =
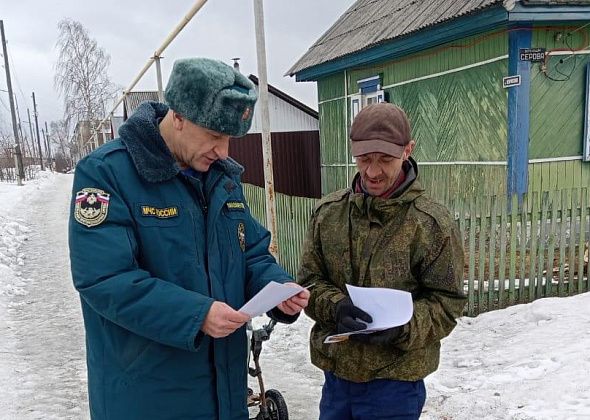
{"type": "Polygon", "coordinates": [[[507,94],[498,79],[507,60],[388,89],[413,126],[424,162],[504,161],[507,94]]]}

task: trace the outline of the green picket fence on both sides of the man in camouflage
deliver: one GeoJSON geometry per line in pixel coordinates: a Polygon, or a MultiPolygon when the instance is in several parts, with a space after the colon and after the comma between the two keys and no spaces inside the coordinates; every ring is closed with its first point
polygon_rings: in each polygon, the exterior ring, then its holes
{"type": "MultiPolygon", "coordinates": [[[[263,224],[264,190],[245,185],[253,215],[263,224]]],[[[590,194],[587,188],[505,196],[455,198],[465,246],[466,314],[589,291],[590,194]]],[[[316,200],[276,194],[279,261],[297,272],[316,200]]]]}

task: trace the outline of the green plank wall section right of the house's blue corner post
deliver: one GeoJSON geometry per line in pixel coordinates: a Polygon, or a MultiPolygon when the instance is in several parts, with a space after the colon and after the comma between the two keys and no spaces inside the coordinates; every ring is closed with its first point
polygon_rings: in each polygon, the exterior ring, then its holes
{"type": "MultiPolygon", "coordinates": [[[[572,33],[577,27],[579,25],[538,28],[533,32],[532,45],[547,50],[585,48],[588,46],[587,30],[572,33]],[[560,38],[556,36],[558,33],[562,34],[560,38]]],[[[562,81],[546,77],[541,64],[532,65],[529,159],[582,155],[588,62],[588,54],[551,56],[547,61],[547,72],[550,77],[562,81]]],[[[589,162],[529,164],[529,192],[589,185],[589,162]]]]}

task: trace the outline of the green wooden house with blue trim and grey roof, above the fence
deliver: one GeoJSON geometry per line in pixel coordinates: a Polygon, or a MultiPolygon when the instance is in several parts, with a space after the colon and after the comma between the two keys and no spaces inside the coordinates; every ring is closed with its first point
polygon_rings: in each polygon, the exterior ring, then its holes
{"type": "Polygon", "coordinates": [[[590,2],[358,0],[288,74],[315,81],[322,192],[355,172],[351,121],[404,108],[442,201],[590,185],[590,2]]]}

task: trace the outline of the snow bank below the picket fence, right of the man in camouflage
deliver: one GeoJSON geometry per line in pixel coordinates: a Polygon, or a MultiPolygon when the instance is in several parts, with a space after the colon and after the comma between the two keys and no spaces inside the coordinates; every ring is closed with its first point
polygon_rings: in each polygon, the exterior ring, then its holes
{"type": "Polygon", "coordinates": [[[590,419],[590,294],[462,318],[424,418],[590,419]]]}

